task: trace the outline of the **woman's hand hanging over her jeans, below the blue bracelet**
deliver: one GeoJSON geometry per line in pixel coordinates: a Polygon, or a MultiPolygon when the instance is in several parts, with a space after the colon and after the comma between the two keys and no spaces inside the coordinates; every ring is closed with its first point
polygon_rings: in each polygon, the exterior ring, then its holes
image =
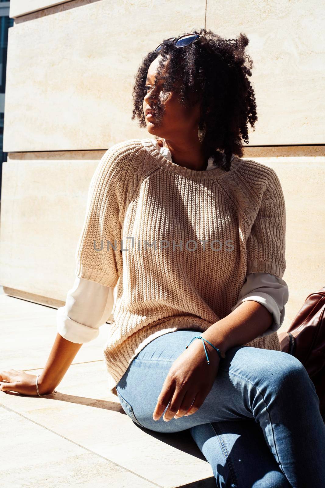
{"type": "Polygon", "coordinates": [[[158,396],[153,420],[160,419],[168,404],[163,416],[165,421],[171,420],[175,414],[176,418],[190,415],[201,407],[218,374],[220,362],[217,351],[206,342],[205,346],[210,364],[202,339],[195,339],[174,361],[158,396]]]}

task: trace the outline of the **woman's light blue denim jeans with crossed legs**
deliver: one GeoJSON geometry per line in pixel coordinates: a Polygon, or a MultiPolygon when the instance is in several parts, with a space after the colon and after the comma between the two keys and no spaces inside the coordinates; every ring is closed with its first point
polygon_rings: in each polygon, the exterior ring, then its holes
{"type": "MultiPolygon", "coordinates": [[[[325,424],[319,398],[305,367],[285,352],[230,348],[195,413],[169,422],[163,415],[153,420],[172,363],[197,335],[194,329],[170,332],[138,353],[116,385],[127,415],[155,432],[189,429],[218,487],[325,486],[325,424]]],[[[203,344],[202,354],[205,357],[203,344]]]]}

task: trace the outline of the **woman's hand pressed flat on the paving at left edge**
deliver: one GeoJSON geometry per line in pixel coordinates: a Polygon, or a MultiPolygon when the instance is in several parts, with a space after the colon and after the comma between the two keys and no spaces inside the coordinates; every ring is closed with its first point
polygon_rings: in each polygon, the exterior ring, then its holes
{"type": "MultiPolygon", "coordinates": [[[[36,389],[35,374],[25,373],[17,369],[10,369],[9,371],[0,371],[0,391],[16,391],[22,395],[38,396],[36,389]]],[[[52,393],[52,390],[42,391],[41,385],[38,384],[38,391],[40,395],[52,393]]]]}

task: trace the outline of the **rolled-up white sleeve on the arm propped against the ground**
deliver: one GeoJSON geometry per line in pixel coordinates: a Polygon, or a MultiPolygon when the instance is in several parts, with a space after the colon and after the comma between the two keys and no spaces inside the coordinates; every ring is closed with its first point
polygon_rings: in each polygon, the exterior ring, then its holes
{"type": "Polygon", "coordinates": [[[76,276],[66,303],[57,309],[57,332],[70,342],[93,341],[107,322],[114,306],[114,287],[76,276]]]}

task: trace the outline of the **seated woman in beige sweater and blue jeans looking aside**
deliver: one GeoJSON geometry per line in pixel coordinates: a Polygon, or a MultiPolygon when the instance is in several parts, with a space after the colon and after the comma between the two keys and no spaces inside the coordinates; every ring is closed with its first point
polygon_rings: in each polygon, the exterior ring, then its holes
{"type": "Polygon", "coordinates": [[[133,119],[152,138],[103,155],[49,360],[36,379],[1,371],[1,389],[55,393],[111,315],[118,282],[104,357],[129,417],[190,429],[219,487],[318,487],[319,399],[277,332],[288,299],[283,192],[271,168],[242,159],[257,120],[247,44],[202,29],[144,58],[133,119]]]}

